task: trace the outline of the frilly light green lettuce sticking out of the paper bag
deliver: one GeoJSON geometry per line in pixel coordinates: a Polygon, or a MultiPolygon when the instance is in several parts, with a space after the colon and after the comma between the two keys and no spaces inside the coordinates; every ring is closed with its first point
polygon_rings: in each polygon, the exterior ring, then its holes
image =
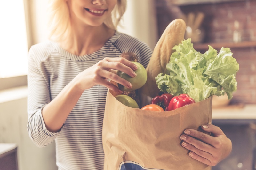
{"type": "Polygon", "coordinates": [[[191,39],[174,46],[170,63],[166,65],[169,74],[156,77],[158,88],[165,93],[178,96],[188,94],[196,102],[212,95],[227,93],[228,99],[237,89],[235,79],[239,64],[229,48],[221,48],[219,54],[212,46],[204,54],[193,48],[191,39]]]}

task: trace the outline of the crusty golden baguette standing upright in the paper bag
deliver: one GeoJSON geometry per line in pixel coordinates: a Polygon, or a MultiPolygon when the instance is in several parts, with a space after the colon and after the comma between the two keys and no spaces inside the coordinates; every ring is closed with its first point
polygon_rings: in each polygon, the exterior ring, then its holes
{"type": "Polygon", "coordinates": [[[157,42],[153,54],[146,68],[148,78],[146,84],[140,88],[140,93],[150,96],[157,96],[160,90],[157,87],[155,77],[159,73],[168,73],[166,64],[169,63],[172,49],[175,45],[184,40],[186,23],[182,19],[173,20],[164,30],[164,33],[157,42]]]}

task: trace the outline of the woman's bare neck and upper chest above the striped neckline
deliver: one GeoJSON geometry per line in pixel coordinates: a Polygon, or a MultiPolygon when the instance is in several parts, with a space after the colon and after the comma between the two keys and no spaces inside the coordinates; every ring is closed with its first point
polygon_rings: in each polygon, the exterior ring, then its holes
{"type": "Polygon", "coordinates": [[[72,26],[67,41],[60,45],[68,52],[76,55],[91,54],[112,37],[115,30],[102,24],[101,26],[72,26]]]}

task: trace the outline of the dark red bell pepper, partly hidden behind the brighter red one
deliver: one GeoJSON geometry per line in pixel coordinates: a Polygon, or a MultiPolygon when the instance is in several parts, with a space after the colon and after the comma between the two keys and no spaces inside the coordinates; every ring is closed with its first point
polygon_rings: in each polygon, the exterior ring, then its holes
{"type": "Polygon", "coordinates": [[[151,101],[151,104],[156,104],[162,107],[164,110],[166,110],[172,98],[173,98],[173,95],[169,93],[165,93],[165,94],[162,94],[161,96],[154,97],[151,101]]]}

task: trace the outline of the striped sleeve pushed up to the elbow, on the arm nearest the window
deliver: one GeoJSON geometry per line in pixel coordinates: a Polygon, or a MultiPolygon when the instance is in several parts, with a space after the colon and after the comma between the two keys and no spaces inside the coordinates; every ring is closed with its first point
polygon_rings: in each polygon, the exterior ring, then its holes
{"type": "Polygon", "coordinates": [[[46,129],[42,108],[50,102],[47,78],[35,62],[33,48],[28,53],[28,135],[38,147],[50,144],[58,133],[46,129]]]}

